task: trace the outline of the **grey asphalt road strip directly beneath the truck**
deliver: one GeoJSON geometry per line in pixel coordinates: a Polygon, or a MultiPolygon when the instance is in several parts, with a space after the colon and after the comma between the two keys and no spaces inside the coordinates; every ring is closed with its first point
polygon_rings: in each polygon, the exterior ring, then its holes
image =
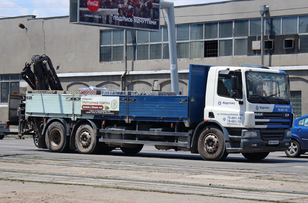
{"type": "Polygon", "coordinates": [[[109,162],[126,162],[142,164],[177,165],[184,167],[206,167],[219,169],[260,170],[266,172],[307,173],[308,153],[299,158],[289,158],[284,152],[272,152],[261,161],[250,161],[241,154],[229,154],[221,162],[204,161],[198,154],[174,150],[156,150],[154,146],[146,145],[136,155],[124,154],[115,149],[107,154],[51,153],[34,146],[31,138],[23,140],[5,137],[0,140],[2,156],[39,157],[56,159],[81,159],[109,162]]]}

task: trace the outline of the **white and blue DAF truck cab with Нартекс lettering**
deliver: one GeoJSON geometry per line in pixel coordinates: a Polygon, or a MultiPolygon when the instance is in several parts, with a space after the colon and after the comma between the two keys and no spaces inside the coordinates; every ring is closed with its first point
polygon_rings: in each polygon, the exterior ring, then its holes
{"type": "Polygon", "coordinates": [[[294,115],[286,73],[248,66],[209,69],[204,119],[221,127],[228,153],[262,158],[290,145],[294,115]]]}

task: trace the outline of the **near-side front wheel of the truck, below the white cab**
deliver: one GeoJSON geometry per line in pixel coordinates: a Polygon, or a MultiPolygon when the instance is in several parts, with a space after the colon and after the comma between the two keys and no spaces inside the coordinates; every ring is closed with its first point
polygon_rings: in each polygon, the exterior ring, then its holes
{"type": "Polygon", "coordinates": [[[215,126],[208,126],[201,131],[198,140],[198,151],[206,161],[221,161],[228,156],[225,136],[215,126]]]}

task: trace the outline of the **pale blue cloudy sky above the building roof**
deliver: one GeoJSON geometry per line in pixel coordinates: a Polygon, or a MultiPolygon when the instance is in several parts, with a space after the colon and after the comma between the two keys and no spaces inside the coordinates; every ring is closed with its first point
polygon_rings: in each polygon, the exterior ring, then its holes
{"type": "MultiPolygon", "coordinates": [[[[170,0],[169,0],[170,1],[170,0]]],[[[174,6],[224,0],[171,0],[174,6]]],[[[69,15],[69,0],[0,0],[0,18],[36,15],[37,18],[69,15]]]]}

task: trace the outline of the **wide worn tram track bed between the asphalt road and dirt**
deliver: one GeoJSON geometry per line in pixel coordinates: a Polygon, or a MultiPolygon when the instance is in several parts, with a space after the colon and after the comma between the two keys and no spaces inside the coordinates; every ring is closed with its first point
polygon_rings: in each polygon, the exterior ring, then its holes
{"type": "Polygon", "coordinates": [[[307,174],[76,159],[0,157],[1,180],[83,184],[257,201],[308,202],[307,174]],[[296,181],[291,180],[294,177],[296,181]],[[302,187],[296,188],[299,182],[302,187]],[[292,190],[286,190],[286,185],[292,190]],[[300,201],[296,201],[297,199],[300,201]]]}

